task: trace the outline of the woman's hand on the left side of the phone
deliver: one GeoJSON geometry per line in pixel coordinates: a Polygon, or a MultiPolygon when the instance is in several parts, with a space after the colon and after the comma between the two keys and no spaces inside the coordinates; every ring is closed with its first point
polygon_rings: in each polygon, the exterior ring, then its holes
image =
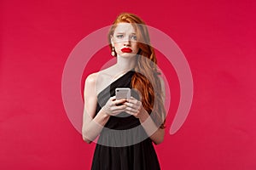
{"type": "Polygon", "coordinates": [[[116,116],[120,112],[125,111],[125,101],[126,99],[115,99],[115,96],[113,96],[108,99],[108,102],[102,107],[102,110],[109,116],[116,116]]]}

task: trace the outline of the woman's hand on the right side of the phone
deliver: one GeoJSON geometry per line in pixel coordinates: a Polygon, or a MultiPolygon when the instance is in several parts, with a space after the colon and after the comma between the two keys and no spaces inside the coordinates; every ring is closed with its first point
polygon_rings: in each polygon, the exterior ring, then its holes
{"type": "Polygon", "coordinates": [[[125,102],[126,108],[125,108],[125,112],[135,116],[136,118],[141,118],[142,116],[142,110],[143,108],[143,104],[141,101],[131,97],[130,99],[127,100],[127,102],[125,102]]]}

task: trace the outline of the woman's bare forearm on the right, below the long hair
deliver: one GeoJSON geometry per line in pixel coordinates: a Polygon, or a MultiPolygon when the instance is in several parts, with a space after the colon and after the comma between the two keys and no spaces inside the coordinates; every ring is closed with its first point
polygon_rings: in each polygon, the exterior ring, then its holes
{"type": "Polygon", "coordinates": [[[145,132],[154,144],[160,144],[164,140],[165,129],[157,127],[149,116],[148,112],[143,109],[139,118],[145,132]]]}

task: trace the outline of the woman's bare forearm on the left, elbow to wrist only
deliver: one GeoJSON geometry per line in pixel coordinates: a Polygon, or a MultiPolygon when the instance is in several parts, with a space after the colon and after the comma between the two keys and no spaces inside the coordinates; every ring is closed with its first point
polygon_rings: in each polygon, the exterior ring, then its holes
{"type": "Polygon", "coordinates": [[[83,139],[87,143],[90,143],[102,132],[102,128],[108,122],[109,115],[103,110],[99,111],[97,115],[91,119],[90,122],[83,125],[83,139]]]}

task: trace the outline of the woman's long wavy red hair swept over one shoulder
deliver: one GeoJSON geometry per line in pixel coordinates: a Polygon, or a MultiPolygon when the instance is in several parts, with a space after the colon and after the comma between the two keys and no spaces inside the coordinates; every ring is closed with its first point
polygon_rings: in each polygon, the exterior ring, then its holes
{"type": "MultiPolygon", "coordinates": [[[[119,14],[113,21],[113,26],[108,32],[108,42],[112,49],[111,36],[119,23],[131,23],[137,32],[137,43],[139,52],[137,54],[137,65],[135,74],[131,78],[131,87],[141,93],[143,107],[153,118],[157,127],[164,128],[166,111],[163,104],[163,93],[160,83],[160,72],[157,69],[157,59],[154,48],[150,45],[148,28],[144,21],[135,14],[119,14]]],[[[116,53],[115,53],[116,54],[116,53]]]]}

